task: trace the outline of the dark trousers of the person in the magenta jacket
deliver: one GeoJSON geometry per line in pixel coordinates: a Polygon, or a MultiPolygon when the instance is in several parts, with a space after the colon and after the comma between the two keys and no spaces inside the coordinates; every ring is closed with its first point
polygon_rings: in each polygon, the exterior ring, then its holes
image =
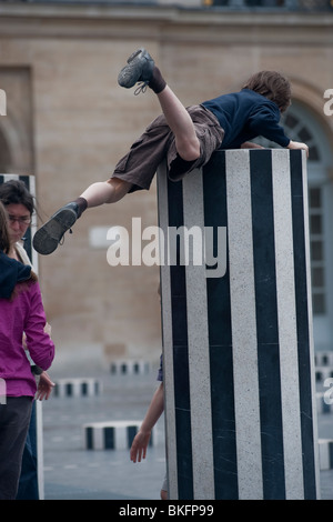
{"type": "Polygon", "coordinates": [[[31,396],[8,396],[0,404],[0,500],[17,496],[31,408],[31,396]]]}

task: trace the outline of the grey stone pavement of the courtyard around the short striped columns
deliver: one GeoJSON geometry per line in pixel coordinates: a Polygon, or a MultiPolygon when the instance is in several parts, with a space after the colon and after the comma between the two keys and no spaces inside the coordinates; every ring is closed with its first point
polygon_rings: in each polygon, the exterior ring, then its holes
{"type": "MultiPolygon", "coordinates": [[[[43,402],[46,500],[160,499],[165,473],[163,415],[155,426],[158,444],[135,464],[128,450],[85,450],[82,428],[89,422],[142,420],[158,387],[155,378],[154,370],[144,375],[99,374],[99,396],[52,396],[43,402]]],[[[333,439],[333,413],[319,415],[319,432],[320,438],[333,439]]],[[[321,472],[321,494],[322,500],[333,499],[333,470],[321,472]]]]}

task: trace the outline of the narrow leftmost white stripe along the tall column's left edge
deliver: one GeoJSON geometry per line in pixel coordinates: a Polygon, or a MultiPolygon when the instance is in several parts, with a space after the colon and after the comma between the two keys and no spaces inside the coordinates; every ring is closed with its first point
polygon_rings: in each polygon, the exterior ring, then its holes
{"type": "MultiPolygon", "coordinates": [[[[168,178],[167,164],[158,169],[158,197],[159,197],[159,225],[168,238],[169,211],[168,211],[168,178]]],[[[161,238],[161,239],[164,239],[161,238]]],[[[160,245],[164,248],[165,242],[160,245]]],[[[178,465],[176,465],[176,432],[175,432],[175,404],[174,404],[174,380],[173,380],[173,341],[172,341],[172,304],[171,304],[171,280],[170,267],[167,263],[168,255],[164,253],[164,263],[161,264],[161,300],[162,300],[162,337],[163,337],[163,390],[165,411],[165,444],[167,444],[167,469],[169,482],[169,500],[178,499],[178,465]]]]}

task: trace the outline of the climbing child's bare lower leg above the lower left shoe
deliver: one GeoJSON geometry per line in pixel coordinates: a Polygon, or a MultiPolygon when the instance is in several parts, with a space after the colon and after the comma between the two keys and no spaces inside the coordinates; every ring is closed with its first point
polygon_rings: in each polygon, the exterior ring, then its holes
{"type": "Polygon", "coordinates": [[[115,203],[121,200],[132,187],[128,181],[111,178],[108,181],[92,183],[80,198],[87,201],[88,208],[99,207],[104,203],[115,203]]]}

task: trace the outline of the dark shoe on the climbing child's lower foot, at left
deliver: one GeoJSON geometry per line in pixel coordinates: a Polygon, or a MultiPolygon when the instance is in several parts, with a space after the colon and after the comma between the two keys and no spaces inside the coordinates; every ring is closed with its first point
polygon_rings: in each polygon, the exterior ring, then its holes
{"type": "Polygon", "coordinates": [[[63,234],[74,224],[77,219],[73,210],[59,210],[36,232],[32,241],[34,250],[42,255],[54,252],[63,234]]]}

